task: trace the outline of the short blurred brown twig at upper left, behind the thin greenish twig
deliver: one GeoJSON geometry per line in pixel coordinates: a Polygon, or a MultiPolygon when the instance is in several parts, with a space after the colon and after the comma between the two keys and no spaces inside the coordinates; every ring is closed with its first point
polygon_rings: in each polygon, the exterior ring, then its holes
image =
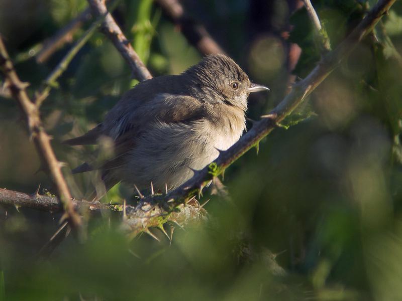
{"type": "Polygon", "coordinates": [[[87,8],[80,13],[75,19],[71,20],[65,27],[59,30],[56,35],[45,41],[42,49],[36,56],[38,63],[44,63],[57,49],[64,43],[71,40],[72,34],[91,16],[90,9],[87,8]]]}

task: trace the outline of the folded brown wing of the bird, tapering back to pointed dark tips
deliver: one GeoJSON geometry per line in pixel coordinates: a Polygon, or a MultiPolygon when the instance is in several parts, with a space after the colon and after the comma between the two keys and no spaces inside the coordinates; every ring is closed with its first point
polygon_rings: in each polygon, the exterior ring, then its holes
{"type": "Polygon", "coordinates": [[[102,136],[109,136],[114,141],[114,157],[102,164],[93,166],[84,163],[73,172],[80,173],[93,169],[104,171],[118,168],[124,164],[125,155],[135,147],[136,136],[152,122],[186,123],[205,117],[204,103],[188,95],[159,93],[152,99],[135,103],[136,100],[123,103],[111,111],[102,124],[81,137],[67,140],[70,145],[96,143],[102,136]]]}

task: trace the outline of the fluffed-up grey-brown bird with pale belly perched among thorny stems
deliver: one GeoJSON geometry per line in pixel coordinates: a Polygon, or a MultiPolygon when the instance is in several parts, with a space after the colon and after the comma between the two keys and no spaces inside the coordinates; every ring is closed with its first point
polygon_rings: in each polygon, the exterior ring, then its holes
{"type": "Polygon", "coordinates": [[[113,155],[73,173],[99,170],[106,191],[119,182],[141,189],[175,189],[239,140],[246,129],[252,83],[231,58],[208,55],[179,75],[142,81],[127,91],[104,121],[68,145],[110,139],[113,155]]]}

